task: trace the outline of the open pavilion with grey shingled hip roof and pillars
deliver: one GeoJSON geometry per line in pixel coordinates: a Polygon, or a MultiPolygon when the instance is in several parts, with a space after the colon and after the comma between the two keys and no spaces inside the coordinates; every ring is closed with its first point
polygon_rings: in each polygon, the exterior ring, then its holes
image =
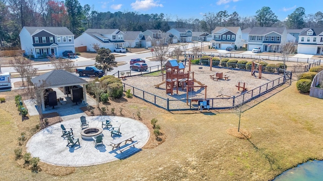
{"type": "MultiPolygon", "coordinates": [[[[37,84],[44,82],[46,86],[44,87],[44,89],[52,88],[52,87],[83,85],[83,97],[84,97],[84,102],[86,104],[85,84],[88,82],[83,78],[80,78],[79,76],[73,73],[70,73],[66,70],[51,70],[50,72],[47,72],[32,78],[31,82],[34,84],[34,86],[37,86],[37,84]]],[[[41,108],[42,110],[45,110],[45,103],[44,103],[43,96],[41,97],[41,102],[42,102],[41,108]]]]}

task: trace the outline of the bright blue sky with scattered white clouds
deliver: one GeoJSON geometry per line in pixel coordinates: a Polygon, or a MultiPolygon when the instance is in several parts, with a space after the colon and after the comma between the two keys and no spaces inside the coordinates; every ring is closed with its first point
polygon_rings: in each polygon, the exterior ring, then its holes
{"type": "Polygon", "coordinates": [[[171,20],[180,19],[203,19],[203,15],[208,12],[218,13],[227,10],[229,14],[237,12],[240,17],[250,17],[256,15],[256,11],[262,7],[270,7],[278,19],[284,21],[288,15],[296,8],[303,7],[305,14],[315,14],[323,12],[321,8],[322,0],[312,0],[307,3],[304,0],[109,0],[90,1],[79,0],[81,6],[86,4],[93,6],[97,12],[137,12],[139,14],[160,14],[164,13],[171,20]]]}

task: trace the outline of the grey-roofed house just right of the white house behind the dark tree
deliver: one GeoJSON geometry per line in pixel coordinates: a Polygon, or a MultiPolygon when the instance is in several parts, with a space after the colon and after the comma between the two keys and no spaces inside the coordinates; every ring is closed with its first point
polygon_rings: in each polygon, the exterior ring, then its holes
{"type": "Polygon", "coordinates": [[[125,31],[124,40],[126,47],[130,48],[140,48],[146,47],[144,40],[144,35],[141,31],[125,31]]]}

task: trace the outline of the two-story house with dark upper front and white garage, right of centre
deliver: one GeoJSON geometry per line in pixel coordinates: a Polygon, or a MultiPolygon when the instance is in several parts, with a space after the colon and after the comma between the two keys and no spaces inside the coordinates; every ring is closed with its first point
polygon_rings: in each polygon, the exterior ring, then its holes
{"type": "Polygon", "coordinates": [[[211,46],[216,49],[225,50],[227,47],[242,47],[242,32],[240,27],[216,27],[212,31],[211,46]]]}

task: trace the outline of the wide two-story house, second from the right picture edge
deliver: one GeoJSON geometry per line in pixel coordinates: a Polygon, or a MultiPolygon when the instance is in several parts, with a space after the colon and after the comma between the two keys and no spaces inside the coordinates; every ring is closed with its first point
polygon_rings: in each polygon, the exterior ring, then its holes
{"type": "Polygon", "coordinates": [[[286,27],[253,27],[249,32],[248,50],[260,47],[263,52],[277,52],[286,39],[286,27]]]}

